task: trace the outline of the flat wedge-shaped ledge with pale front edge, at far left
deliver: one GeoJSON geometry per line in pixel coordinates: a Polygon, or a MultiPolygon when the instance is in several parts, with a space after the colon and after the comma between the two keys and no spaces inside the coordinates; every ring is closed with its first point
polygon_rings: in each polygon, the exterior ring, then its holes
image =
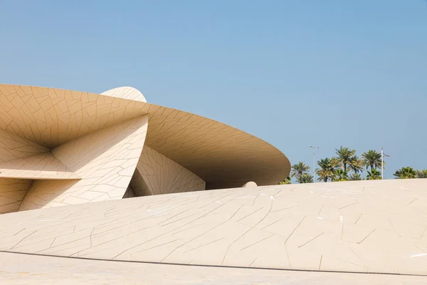
{"type": "Polygon", "coordinates": [[[0,177],[23,179],[80,179],[51,152],[17,158],[0,163],[0,177]]]}

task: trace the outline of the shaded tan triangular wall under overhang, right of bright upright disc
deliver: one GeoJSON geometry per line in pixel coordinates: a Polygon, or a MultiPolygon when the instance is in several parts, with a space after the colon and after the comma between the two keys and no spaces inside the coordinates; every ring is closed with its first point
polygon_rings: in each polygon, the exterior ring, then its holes
{"type": "Polygon", "coordinates": [[[136,171],[139,173],[131,186],[137,197],[200,191],[206,187],[204,180],[193,172],[147,146],[142,149],[136,171]]]}

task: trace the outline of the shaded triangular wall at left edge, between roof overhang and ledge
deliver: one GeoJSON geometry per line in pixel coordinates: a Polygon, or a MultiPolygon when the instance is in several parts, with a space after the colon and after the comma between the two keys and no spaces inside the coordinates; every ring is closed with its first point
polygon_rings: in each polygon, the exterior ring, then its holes
{"type": "Polygon", "coordinates": [[[48,148],[37,145],[35,142],[20,138],[14,133],[0,130],[0,163],[47,151],[49,151],[48,148]]]}

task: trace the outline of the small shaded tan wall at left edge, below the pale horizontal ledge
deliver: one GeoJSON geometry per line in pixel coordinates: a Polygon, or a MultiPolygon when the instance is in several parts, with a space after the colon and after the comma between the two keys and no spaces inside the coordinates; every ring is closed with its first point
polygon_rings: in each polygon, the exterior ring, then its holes
{"type": "Polygon", "coordinates": [[[0,214],[16,212],[32,180],[0,178],[0,214]]]}

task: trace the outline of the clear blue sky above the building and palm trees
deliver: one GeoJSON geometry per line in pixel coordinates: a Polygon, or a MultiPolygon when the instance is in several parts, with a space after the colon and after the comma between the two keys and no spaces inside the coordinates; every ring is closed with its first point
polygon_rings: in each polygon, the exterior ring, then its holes
{"type": "Polygon", "coordinates": [[[312,165],[340,145],[427,168],[427,1],[0,0],[0,82],[219,120],[312,165]]]}

